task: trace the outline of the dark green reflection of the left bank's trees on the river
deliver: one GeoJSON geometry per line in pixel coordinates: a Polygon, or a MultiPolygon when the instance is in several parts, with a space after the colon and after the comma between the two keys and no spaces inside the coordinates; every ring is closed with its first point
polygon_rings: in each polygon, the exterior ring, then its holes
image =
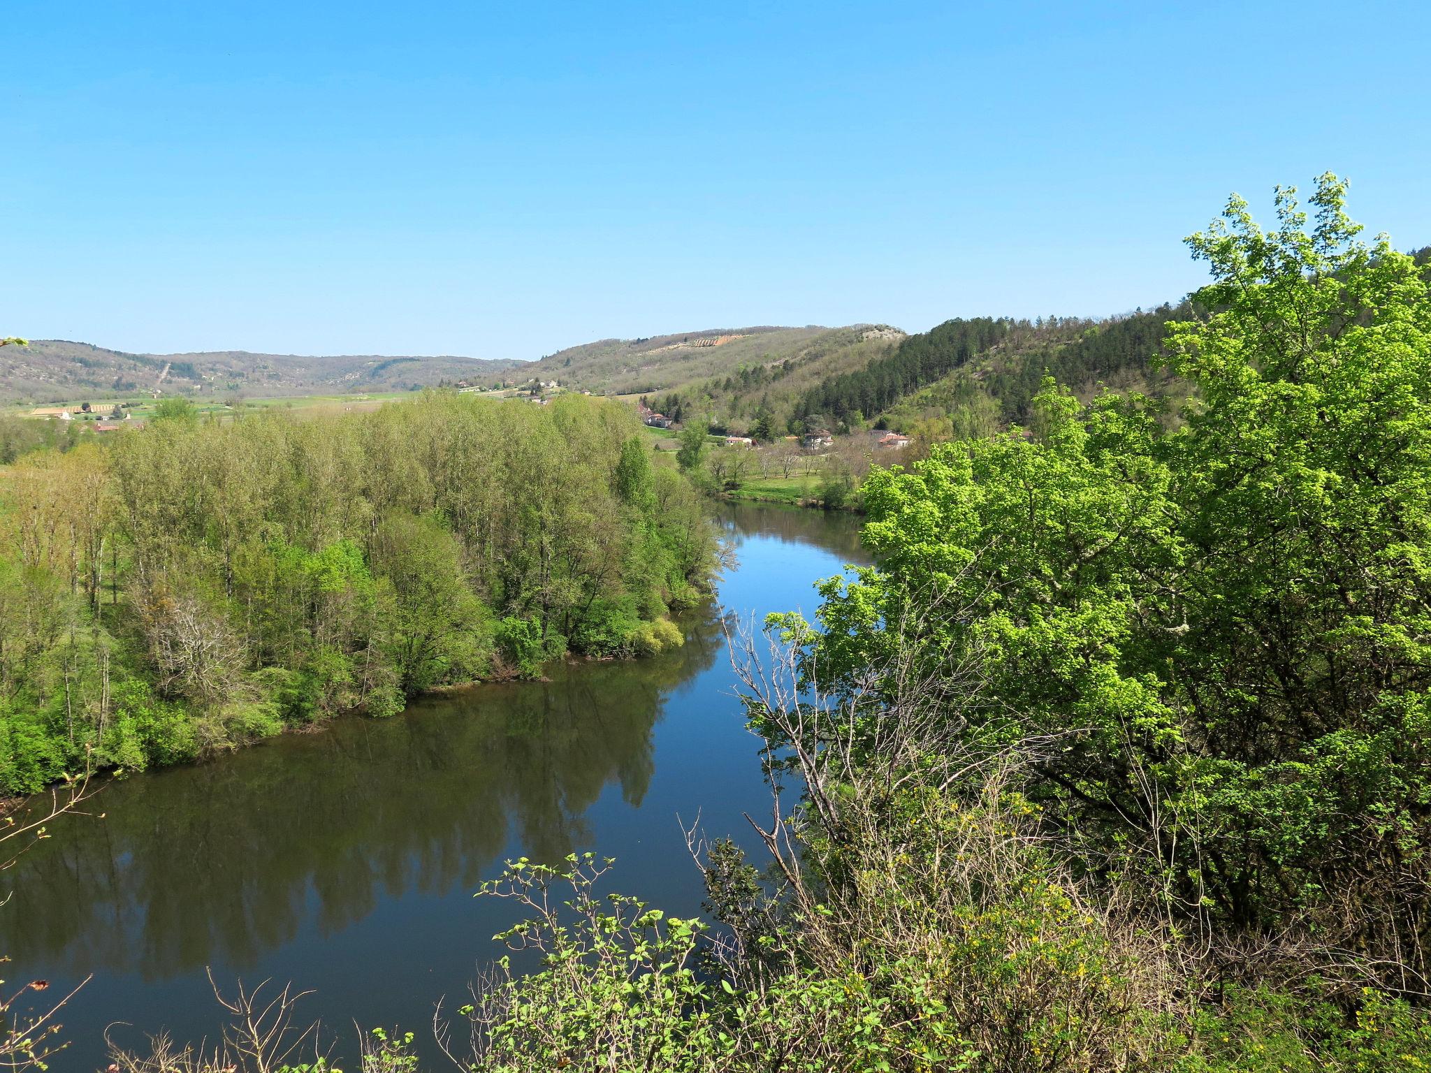
{"type": "Polygon", "coordinates": [[[21,964],[163,979],[242,967],[409,890],[475,887],[514,836],[560,860],[608,783],[651,781],[665,692],[723,652],[716,619],[654,660],[561,667],[341,720],[213,764],[112,784],[104,820],[70,818],[9,873],[0,950],[21,964]]]}

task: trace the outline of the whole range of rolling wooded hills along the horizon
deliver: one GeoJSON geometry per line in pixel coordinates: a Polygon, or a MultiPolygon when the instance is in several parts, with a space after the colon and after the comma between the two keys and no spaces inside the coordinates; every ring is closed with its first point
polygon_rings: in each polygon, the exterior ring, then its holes
{"type": "Polygon", "coordinates": [[[0,349],[0,401],[46,403],[156,388],[222,401],[538,379],[598,395],[644,395],[680,421],[707,418],[717,431],[744,432],[761,412],[781,431],[861,422],[907,431],[956,411],[977,415],[980,426],[1007,425],[1026,419],[1045,371],[1080,393],[1098,383],[1161,393],[1168,386],[1156,371],[1162,325],[1183,315],[1163,306],[1102,320],[975,318],[916,335],[887,325],[708,329],[600,339],[535,362],[246,351],[152,355],[40,339],[0,349]]]}

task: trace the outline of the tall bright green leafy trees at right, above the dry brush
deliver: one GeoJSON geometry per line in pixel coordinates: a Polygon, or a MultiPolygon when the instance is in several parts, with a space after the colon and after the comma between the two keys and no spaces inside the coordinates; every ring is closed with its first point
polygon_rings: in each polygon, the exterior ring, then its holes
{"type": "Polygon", "coordinates": [[[826,589],[820,677],[917,621],[930,668],[986,677],[979,733],[1063,741],[1036,795],[1093,857],[1225,927],[1401,963],[1431,907],[1431,302],[1337,180],[1311,230],[1278,203],[1276,232],[1235,199],[1191,239],[1218,312],[1172,325],[1183,428],[1047,383],[1032,438],[869,478],[879,569],[826,589]]]}

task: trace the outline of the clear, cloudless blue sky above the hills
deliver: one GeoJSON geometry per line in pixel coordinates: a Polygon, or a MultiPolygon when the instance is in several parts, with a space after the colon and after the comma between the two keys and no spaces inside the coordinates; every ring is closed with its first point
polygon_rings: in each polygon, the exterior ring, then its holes
{"type": "Polygon", "coordinates": [[[4,0],[0,333],[535,358],[1176,299],[1322,170],[1431,243],[1431,4],[4,0]]]}

